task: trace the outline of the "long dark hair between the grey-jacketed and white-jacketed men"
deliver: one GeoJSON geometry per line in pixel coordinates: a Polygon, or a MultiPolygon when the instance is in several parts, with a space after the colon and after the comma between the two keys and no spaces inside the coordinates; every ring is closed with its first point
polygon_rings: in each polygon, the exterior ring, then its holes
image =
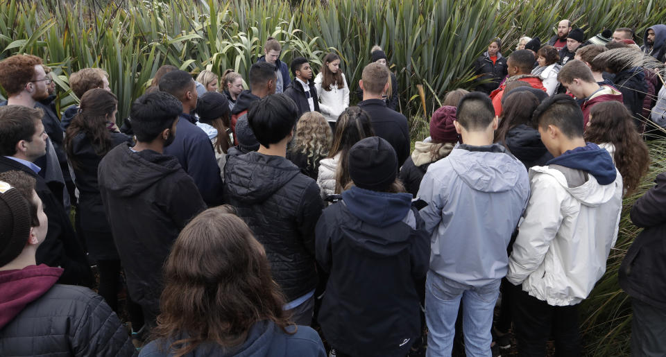
{"type": "Polygon", "coordinates": [[[530,125],[532,113],[539,106],[539,99],[530,92],[509,94],[502,103],[502,121],[495,130],[495,143],[506,146],[506,133],[520,124],[530,125]]]}

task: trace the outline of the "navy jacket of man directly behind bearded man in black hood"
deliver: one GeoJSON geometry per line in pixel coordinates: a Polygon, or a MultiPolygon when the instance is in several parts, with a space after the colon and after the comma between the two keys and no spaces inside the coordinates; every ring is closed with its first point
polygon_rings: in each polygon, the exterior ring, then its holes
{"type": "Polygon", "coordinates": [[[222,177],[213,144],[208,135],[194,124],[194,118],[180,114],[176,124],[176,139],[164,148],[164,154],[178,159],[209,207],[221,203],[222,177]]]}

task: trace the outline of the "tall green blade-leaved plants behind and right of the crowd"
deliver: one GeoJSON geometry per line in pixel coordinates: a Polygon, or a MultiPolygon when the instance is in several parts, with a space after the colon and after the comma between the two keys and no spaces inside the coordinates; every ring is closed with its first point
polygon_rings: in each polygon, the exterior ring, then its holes
{"type": "MultiPolygon", "coordinates": [[[[78,102],[69,90],[71,73],[105,69],[119,99],[120,124],[162,64],[193,75],[230,68],[247,78],[271,36],[282,43],[282,61],[303,55],[315,71],[325,53],[338,53],[353,90],[370,48],[379,44],[398,77],[398,110],[410,121],[412,139],[420,140],[446,92],[473,87],[472,63],[491,38],[500,37],[502,53],[509,55],[522,35],[545,43],[556,23],[568,18],[585,29],[586,38],[604,28],[631,27],[640,43],[646,28],[666,17],[665,5],[663,0],[0,0],[0,60],[16,53],[44,58],[56,75],[59,110],[78,102]]],[[[665,171],[665,154],[663,141],[651,143],[650,173],[624,201],[608,272],[583,304],[587,354],[628,351],[631,311],[617,285],[617,268],[638,234],[628,216],[631,204],[665,171]]]]}

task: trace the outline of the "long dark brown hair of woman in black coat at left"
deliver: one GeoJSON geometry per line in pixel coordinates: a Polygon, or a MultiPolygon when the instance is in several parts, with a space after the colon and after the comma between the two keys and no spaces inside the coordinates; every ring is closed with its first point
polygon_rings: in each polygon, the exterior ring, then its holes
{"type": "Polygon", "coordinates": [[[111,115],[117,107],[118,99],[108,90],[95,88],[83,94],[78,113],[72,119],[65,134],[65,151],[74,168],[78,167],[79,162],[74,155],[72,140],[79,133],[85,134],[99,156],[106,155],[112,149],[113,142],[108,122],[115,121],[111,115]]]}

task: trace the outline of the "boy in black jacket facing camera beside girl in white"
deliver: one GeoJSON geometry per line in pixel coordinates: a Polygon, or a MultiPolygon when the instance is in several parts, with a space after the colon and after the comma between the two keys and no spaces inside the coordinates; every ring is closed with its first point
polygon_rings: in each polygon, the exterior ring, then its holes
{"type": "Polygon", "coordinates": [[[320,112],[317,89],[312,82],[312,67],[304,57],[291,62],[293,82],[284,91],[298,107],[298,118],[305,112],[320,112]]]}

